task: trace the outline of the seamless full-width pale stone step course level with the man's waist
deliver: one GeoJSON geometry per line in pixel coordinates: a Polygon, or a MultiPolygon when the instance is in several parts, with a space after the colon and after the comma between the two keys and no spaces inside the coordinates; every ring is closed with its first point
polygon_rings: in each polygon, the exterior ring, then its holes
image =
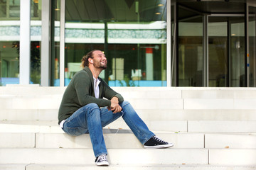
{"type": "MultiPolygon", "coordinates": [[[[142,120],[256,120],[255,110],[136,109],[142,120]]],[[[2,109],[0,120],[58,120],[58,109],[2,109]]]]}

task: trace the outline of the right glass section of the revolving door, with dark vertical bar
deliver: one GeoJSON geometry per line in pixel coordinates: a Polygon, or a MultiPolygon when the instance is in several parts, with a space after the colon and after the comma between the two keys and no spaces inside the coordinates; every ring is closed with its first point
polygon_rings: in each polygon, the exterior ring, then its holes
{"type": "Polygon", "coordinates": [[[246,86],[244,16],[210,16],[208,52],[209,86],[246,86]]]}

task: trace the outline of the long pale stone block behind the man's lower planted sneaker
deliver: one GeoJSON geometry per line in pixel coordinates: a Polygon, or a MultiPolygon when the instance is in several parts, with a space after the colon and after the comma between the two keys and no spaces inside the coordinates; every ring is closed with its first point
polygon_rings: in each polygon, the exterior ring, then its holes
{"type": "MultiPolygon", "coordinates": [[[[207,149],[108,149],[110,164],[208,164],[207,149]]],[[[2,164],[94,164],[92,149],[0,149],[2,164]]]]}

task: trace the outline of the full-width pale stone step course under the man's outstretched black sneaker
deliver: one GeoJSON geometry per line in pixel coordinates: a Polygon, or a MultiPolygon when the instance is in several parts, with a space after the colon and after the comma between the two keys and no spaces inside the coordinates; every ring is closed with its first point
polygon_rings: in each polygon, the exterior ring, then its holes
{"type": "MultiPolygon", "coordinates": [[[[174,143],[173,148],[256,149],[256,134],[164,133],[161,139],[174,143]]],[[[142,149],[130,130],[104,130],[109,149],[142,149]],[[127,142],[129,141],[129,142],[127,142]]],[[[0,133],[2,148],[92,148],[88,134],[73,137],[65,133],[0,133]]]]}

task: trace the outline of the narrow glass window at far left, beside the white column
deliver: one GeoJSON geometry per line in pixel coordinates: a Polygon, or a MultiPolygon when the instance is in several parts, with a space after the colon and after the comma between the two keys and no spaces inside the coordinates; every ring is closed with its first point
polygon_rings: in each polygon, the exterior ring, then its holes
{"type": "Polygon", "coordinates": [[[0,1],[0,86],[18,84],[20,1],[0,1]]]}

